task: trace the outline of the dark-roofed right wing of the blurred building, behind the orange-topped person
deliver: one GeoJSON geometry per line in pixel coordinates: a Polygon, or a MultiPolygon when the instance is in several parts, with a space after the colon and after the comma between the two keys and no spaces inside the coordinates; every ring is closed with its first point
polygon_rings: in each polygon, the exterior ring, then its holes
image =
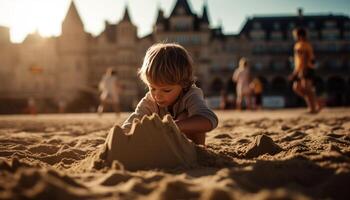
{"type": "Polygon", "coordinates": [[[293,70],[292,30],[304,27],[316,56],[318,95],[330,106],[350,105],[350,19],[344,15],[260,16],[247,20],[239,33],[265,95],[280,95],[286,106],[300,104],[287,76],[293,70]]]}

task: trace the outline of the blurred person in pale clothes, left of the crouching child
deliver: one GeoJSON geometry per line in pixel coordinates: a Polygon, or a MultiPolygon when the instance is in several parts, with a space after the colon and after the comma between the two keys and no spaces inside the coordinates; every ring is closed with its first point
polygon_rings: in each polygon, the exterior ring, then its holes
{"type": "Polygon", "coordinates": [[[103,75],[99,85],[100,105],[98,106],[98,114],[102,114],[107,105],[112,105],[114,112],[118,115],[120,112],[120,83],[117,78],[117,72],[113,68],[108,68],[103,75]]]}

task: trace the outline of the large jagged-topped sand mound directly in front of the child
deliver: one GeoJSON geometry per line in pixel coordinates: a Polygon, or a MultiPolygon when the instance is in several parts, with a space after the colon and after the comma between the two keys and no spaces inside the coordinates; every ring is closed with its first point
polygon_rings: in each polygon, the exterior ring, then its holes
{"type": "Polygon", "coordinates": [[[118,160],[128,170],[190,167],[196,164],[195,145],[178,129],[171,116],[158,115],[135,120],[130,133],[113,127],[101,158],[108,164],[118,160]]]}

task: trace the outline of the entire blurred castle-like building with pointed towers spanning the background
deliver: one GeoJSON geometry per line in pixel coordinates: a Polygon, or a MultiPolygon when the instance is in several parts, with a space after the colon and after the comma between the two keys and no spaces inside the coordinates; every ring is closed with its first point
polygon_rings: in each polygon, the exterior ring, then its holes
{"type": "MultiPolygon", "coordinates": [[[[350,19],[343,15],[256,16],[248,18],[238,34],[212,28],[207,5],[196,14],[187,0],[177,0],[169,16],[159,9],[153,31],[139,38],[128,8],[116,24],[105,22],[104,31],[93,37],[84,30],[71,3],[59,37],[28,35],[12,44],[9,29],[0,27],[0,113],[19,112],[29,98],[45,108],[65,101],[69,111],[88,111],[97,105],[97,85],[113,67],[123,85],[124,110],[131,110],[145,92],[137,69],[149,46],[177,42],[194,59],[197,85],[207,96],[220,90],[234,92],[233,70],[242,56],[248,57],[253,74],[264,84],[264,96],[278,96],[284,106],[302,101],[293,94],[287,76],[292,71],[293,39],[297,26],[307,28],[317,59],[317,91],[332,105],[350,102],[350,19]],[[19,106],[18,106],[19,105],[19,106]],[[17,109],[17,110],[16,110],[17,109]],[[8,110],[8,111],[7,111],[8,110]]],[[[46,111],[50,112],[50,109],[46,111]]]]}

